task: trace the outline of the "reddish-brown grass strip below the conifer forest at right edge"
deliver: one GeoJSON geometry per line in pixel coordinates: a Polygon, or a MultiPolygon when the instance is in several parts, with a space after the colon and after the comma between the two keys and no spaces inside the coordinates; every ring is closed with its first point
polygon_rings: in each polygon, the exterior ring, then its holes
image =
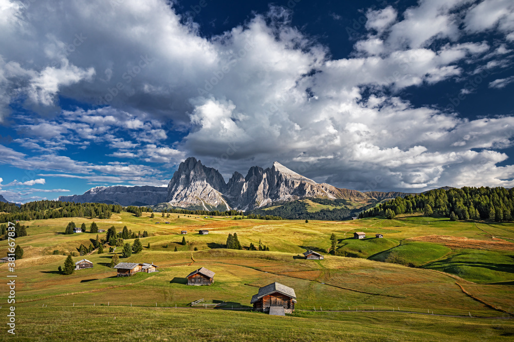
{"type": "Polygon", "coordinates": [[[493,237],[490,240],[475,240],[467,237],[448,236],[448,235],[425,235],[408,238],[407,240],[431,242],[443,244],[452,249],[497,249],[504,251],[514,251],[514,244],[505,240],[493,237]]]}

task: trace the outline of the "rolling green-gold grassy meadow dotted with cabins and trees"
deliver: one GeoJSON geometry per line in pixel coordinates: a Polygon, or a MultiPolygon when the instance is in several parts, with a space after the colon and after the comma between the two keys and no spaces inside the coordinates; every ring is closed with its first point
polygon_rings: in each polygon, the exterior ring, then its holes
{"type": "MultiPolygon", "coordinates": [[[[123,226],[136,233],[147,231],[150,236],[141,238],[143,250],[129,258],[121,256],[121,247],[113,253],[105,248],[103,254],[76,256],[74,261],[87,258],[94,268],[62,275],[58,272],[66,258],[62,254],[77,251],[81,244],[87,247],[96,238],[87,232],[63,234],[70,220],[77,226],[85,223],[88,229],[93,222],[88,218],[21,222],[29,227],[28,236],[16,239],[25,250],[15,271],[17,339],[66,339],[74,338],[75,332],[84,340],[514,336],[514,225],[425,216],[305,223],[157,213],[150,218],[148,213],[135,217],[122,212],[95,222],[99,229],[114,225],[117,231],[123,226]],[[197,234],[200,229],[209,234],[197,234]],[[188,231],[186,246],[181,244],[181,230],[188,231]],[[357,231],[365,232],[366,238],[353,239],[357,231]],[[237,233],[245,247],[261,242],[270,251],[225,249],[229,233],[237,233]],[[338,254],[346,256],[327,254],[332,233],[338,239],[338,254]],[[384,238],[375,238],[376,233],[384,238]],[[301,253],[306,249],[325,258],[305,260],[301,253]],[[54,250],[60,255],[52,255],[54,250]],[[118,278],[109,267],[115,253],[120,261],[153,262],[159,272],[118,278]],[[215,272],[215,283],[187,286],[186,275],[200,267],[215,272]],[[273,281],[295,289],[296,312],[274,317],[245,311],[259,287],[273,281]],[[229,310],[187,307],[201,298],[207,303],[225,302],[229,310]],[[433,316],[422,315],[432,312],[433,316]],[[73,319],[76,316],[80,319],[73,319]]],[[[104,238],[105,233],[99,236],[104,238]]],[[[7,242],[2,241],[0,254],[6,252],[7,242]]],[[[7,265],[0,264],[0,275],[6,279],[7,273],[7,265]]],[[[7,287],[0,289],[5,298],[7,287]]],[[[7,313],[6,305],[0,311],[7,313]]]]}

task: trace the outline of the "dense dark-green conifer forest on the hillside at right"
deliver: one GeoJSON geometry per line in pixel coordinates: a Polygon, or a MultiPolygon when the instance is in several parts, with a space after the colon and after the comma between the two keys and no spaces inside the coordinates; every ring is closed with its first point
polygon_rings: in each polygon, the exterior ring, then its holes
{"type": "Polygon", "coordinates": [[[417,195],[396,197],[363,211],[359,218],[424,212],[428,216],[446,216],[452,220],[514,220],[514,190],[502,187],[463,187],[435,189],[417,195]]]}

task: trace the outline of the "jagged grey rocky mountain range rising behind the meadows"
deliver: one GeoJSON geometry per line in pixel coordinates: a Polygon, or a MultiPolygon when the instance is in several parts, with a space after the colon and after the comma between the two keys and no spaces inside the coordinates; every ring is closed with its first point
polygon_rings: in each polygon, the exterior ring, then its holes
{"type": "Polygon", "coordinates": [[[60,196],[59,200],[77,203],[107,203],[122,206],[167,204],[191,210],[255,210],[274,203],[307,198],[345,199],[354,207],[396,196],[403,192],[360,192],[316,183],[278,162],[271,168],[253,166],[246,176],[234,172],[228,182],[214,168],[194,157],[180,163],[168,187],[96,187],[82,195],[60,196]]]}

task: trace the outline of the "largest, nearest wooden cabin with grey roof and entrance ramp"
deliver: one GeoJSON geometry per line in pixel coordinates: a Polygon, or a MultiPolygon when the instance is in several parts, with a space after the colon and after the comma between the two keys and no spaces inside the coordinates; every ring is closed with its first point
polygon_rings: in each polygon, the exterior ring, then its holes
{"type": "Polygon", "coordinates": [[[285,313],[295,311],[295,290],[280,283],[272,283],[259,289],[250,301],[256,311],[269,312],[270,307],[282,307],[285,313]]]}

